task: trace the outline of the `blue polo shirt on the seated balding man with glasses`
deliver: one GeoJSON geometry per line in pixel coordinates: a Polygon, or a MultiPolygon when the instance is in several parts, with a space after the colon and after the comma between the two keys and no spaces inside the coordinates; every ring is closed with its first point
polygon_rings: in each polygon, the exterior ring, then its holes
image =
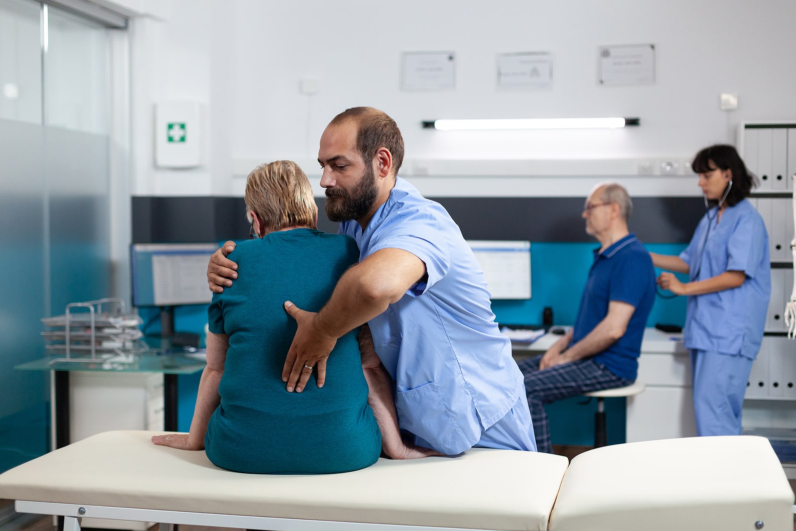
{"type": "Polygon", "coordinates": [[[644,328],[655,299],[652,259],[632,233],[603,252],[595,249],[594,254],[595,261],[591,264],[580,299],[572,342],[579,342],[594,330],[608,314],[611,301],[634,306],[636,310],[627,323],[625,335],[592,359],[618,377],[635,380],[644,328]]]}

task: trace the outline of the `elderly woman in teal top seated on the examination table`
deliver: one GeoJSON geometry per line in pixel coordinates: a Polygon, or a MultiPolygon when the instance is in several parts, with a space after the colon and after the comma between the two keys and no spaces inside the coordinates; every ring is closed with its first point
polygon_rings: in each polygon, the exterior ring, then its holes
{"type": "Polygon", "coordinates": [[[363,363],[375,352],[367,331],[362,358],[358,329],[340,338],[326,365],[326,385],[308,385],[300,393],[285,390],[281,374],[296,324],[283,302],[289,295],[302,307],[320,310],[359,252],[349,237],[314,228],[318,210],[312,189],[294,162],[257,167],[248,176],[245,201],[257,237],[233,253],[245,275],[213,295],[209,306],[208,365],[190,431],[158,435],[153,442],[204,448],[218,467],[256,474],[368,467],[380,455],[380,428],[388,455],[428,455],[401,443],[392,396],[379,391],[388,388],[374,381],[369,400],[363,363]]]}

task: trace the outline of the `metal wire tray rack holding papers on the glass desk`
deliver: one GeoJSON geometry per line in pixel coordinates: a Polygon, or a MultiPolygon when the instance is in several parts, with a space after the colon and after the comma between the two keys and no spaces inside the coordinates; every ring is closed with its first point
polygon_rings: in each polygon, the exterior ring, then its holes
{"type": "Polygon", "coordinates": [[[122,299],[106,298],[69,303],[63,315],[41,319],[47,330],[41,335],[45,347],[62,356],[62,361],[132,363],[149,347],[141,340],[138,314],[127,314],[122,299]]]}

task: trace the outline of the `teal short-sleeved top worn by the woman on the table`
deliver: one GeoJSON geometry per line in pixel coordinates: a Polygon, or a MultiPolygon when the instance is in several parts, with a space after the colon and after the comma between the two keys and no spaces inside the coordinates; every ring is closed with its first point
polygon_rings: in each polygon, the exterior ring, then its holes
{"type": "Polygon", "coordinates": [[[270,232],[229,256],[239,279],[214,295],[209,330],[229,336],[221,402],[205,436],[219,467],[259,474],[322,474],[376,462],[380,432],[367,404],[357,331],[338,339],[326,384],[287,392],[282,369],[296,330],[292,301],[318,311],[359,256],[353,240],[309,228],[270,232]]]}

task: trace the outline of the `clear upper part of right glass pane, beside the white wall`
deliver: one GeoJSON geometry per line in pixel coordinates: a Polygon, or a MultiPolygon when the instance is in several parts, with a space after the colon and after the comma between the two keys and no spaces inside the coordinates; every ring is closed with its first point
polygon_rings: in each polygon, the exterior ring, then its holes
{"type": "Polygon", "coordinates": [[[45,124],[107,133],[106,29],[47,6],[45,124]]]}

